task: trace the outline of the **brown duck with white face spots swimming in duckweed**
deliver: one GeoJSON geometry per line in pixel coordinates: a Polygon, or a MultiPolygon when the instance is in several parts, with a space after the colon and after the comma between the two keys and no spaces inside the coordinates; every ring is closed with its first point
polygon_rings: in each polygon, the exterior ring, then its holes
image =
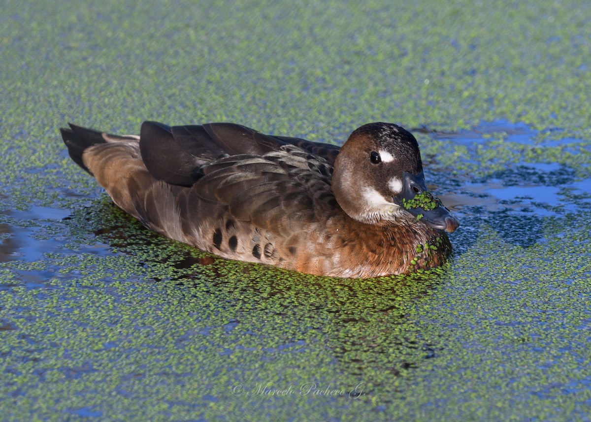
{"type": "Polygon", "coordinates": [[[452,252],[459,222],[427,189],[417,139],[396,124],[362,125],[340,148],[233,123],[60,131],[118,207],[222,258],[373,278],[428,271],[452,252]]]}

